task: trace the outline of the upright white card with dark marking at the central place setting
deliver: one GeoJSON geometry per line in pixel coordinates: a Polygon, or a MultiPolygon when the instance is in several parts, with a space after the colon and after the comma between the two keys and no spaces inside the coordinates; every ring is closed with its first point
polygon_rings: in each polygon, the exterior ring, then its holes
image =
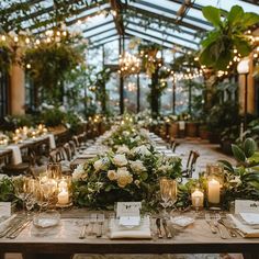
{"type": "Polygon", "coordinates": [[[117,202],[116,217],[139,216],[140,209],[142,209],[140,202],[117,202]]]}

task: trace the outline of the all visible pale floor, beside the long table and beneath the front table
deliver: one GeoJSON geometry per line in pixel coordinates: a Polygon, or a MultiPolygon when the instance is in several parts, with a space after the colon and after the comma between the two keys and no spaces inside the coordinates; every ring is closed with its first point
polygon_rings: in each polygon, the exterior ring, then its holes
{"type": "MultiPolygon", "coordinates": [[[[228,160],[232,164],[235,164],[235,160],[221,153],[219,150],[219,146],[218,145],[214,145],[214,144],[210,144],[206,140],[201,140],[199,138],[181,138],[181,139],[177,139],[177,143],[179,143],[180,145],[177,147],[176,153],[179,154],[179,156],[182,158],[182,162],[183,166],[187,164],[188,160],[188,156],[191,149],[199,151],[200,157],[196,161],[196,170],[193,174],[193,178],[196,178],[199,176],[200,171],[205,170],[206,168],[206,164],[209,162],[216,162],[218,159],[225,159],[228,160]]],[[[109,259],[113,259],[113,258],[145,258],[145,259],[154,259],[154,258],[160,258],[160,259],[172,259],[172,258],[177,258],[177,259],[219,259],[219,258],[235,258],[235,259],[239,259],[243,258],[240,255],[232,255],[232,256],[218,256],[218,255],[181,255],[181,256],[134,256],[134,257],[116,257],[116,256],[108,256],[108,257],[102,257],[102,256],[78,256],[76,257],[77,259],[87,259],[87,258],[91,258],[91,259],[101,259],[101,258],[109,258],[109,259]]],[[[21,255],[19,254],[8,254],[5,256],[5,259],[22,259],[21,255]]]]}

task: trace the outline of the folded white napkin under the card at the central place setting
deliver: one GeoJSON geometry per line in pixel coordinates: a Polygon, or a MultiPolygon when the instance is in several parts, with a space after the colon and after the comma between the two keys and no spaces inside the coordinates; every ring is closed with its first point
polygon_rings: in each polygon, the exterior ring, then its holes
{"type": "Polygon", "coordinates": [[[110,238],[120,239],[150,239],[150,218],[145,216],[142,218],[139,226],[126,227],[119,224],[119,219],[112,218],[110,222],[110,238]]]}

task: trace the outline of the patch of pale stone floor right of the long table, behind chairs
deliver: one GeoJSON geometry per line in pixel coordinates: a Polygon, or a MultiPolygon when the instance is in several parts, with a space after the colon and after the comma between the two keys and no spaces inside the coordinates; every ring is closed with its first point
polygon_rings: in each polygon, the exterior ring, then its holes
{"type": "Polygon", "coordinates": [[[206,164],[210,162],[228,160],[230,164],[235,165],[235,159],[223,154],[219,149],[219,145],[210,144],[207,140],[202,140],[200,138],[179,138],[176,139],[176,142],[179,144],[176,153],[182,158],[183,167],[187,165],[190,150],[196,150],[200,154],[193,178],[198,178],[199,172],[204,171],[206,169],[206,164]]]}

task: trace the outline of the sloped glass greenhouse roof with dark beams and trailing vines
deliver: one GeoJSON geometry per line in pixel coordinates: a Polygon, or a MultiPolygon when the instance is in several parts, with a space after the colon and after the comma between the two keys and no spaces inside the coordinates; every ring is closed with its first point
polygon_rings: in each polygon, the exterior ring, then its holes
{"type": "MultiPolygon", "coordinates": [[[[57,2],[57,1],[55,1],[57,2]]],[[[115,20],[117,13],[109,0],[75,0],[60,1],[67,4],[63,12],[54,4],[54,0],[1,0],[0,29],[13,31],[15,26],[34,34],[43,33],[56,25],[55,14],[63,15],[63,21],[69,30],[81,31],[92,46],[100,46],[119,38],[115,20]],[[70,2],[70,3],[69,3],[70,2]],[[13,11],[13,5],[27,4],[27,10],[13,11]]],[[[214,5],[226,11],[235,4],[247,12],[259,13],[259,4],[249,0],[192,0],[185,4],[183,0],[116,0],[121,3],[123,31],[126,36],[137,36],[148,42],[161,44],[167,48],[199,48],[203,32],[212,30],[212,25],[203,18],[202,8],[214,5]]],[[[59,3],[57,3],[59,4],[59,3]]],[[[15,9],[18,10],[18,8],[15,9]]]]}

